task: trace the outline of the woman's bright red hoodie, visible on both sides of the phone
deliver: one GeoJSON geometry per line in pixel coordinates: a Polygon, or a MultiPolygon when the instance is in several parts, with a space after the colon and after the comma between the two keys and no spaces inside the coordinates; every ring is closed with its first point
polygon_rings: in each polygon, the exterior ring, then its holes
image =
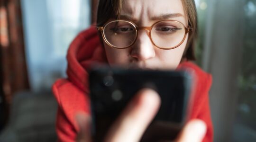
{"type": "MultiPolygon", "coordinates": [[[[92,62],[107,63],[105,53],[95,27],[82,31],[72,42],[67,53],[67,79],[60,79],[53,85],[58,102],[56,132],[59,142],[74,142],[79,131],[74,116],[77,112],[90,112],[90,98],[87,69],[92,62]]],[[[198,118],[207,124],[203,142],[212,142],[213,128],[210,118],[208,92],[211,75],[192,62],[183,62],[179,68],[190,68],[197,76],[194,103],[189,120],[198,118]]]]}

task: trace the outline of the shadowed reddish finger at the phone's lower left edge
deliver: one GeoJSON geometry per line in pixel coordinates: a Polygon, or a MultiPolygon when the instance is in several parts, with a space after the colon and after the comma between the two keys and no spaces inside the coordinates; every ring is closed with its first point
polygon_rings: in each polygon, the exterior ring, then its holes
{"type": "Polygon", "coordinates": [[[76,142],[91,142],[91,118],[85,113],[78,113],[75,117],[79,127],[76,142]]]}

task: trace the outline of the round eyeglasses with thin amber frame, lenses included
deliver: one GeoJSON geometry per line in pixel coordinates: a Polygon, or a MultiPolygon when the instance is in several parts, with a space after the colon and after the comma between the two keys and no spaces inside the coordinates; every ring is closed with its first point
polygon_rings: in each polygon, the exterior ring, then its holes
{"type": "Polygon", "coordinates": [[[133,22],[114,20],[97,27],[104,41],[110,47],[124,49],[132,46],[138,36],[138,30],[147,30],[151,42],[160,49],[174,49],[180,46],[192,28],[185,27],[176,20],[161,20],[151,27],[137,27],[133,22]]]}

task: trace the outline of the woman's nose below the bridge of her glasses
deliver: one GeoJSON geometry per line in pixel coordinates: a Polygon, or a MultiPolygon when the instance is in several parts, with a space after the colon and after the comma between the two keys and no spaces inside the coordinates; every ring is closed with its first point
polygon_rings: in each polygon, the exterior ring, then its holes
{"type": "Polygon", "coordinates": [[[137,41],[131,48],[131,56],[141,61],[155,57],[155,46],[147,30],[138,31],[137,41]]]}

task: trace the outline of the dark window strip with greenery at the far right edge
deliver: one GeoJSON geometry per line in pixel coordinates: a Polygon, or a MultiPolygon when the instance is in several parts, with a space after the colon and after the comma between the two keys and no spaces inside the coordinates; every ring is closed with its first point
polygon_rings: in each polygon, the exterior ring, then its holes
{"type": "Polygon", "coordinates": [[[244,5],[242,64],[233,142],[256,141],[256,0],[244,5]]]}

